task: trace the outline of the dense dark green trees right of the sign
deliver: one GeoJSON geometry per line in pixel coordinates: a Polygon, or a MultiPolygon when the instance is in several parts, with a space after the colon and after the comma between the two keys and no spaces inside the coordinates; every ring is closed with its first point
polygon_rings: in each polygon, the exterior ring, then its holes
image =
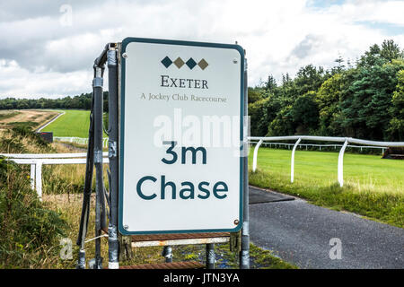
{"type": "Polygon", "coordinates": [[[250,135],[350,136],[404,141],[404,50],[374,44],[354,64],[305,65],[294,79],[249,88],[250,135]]]}

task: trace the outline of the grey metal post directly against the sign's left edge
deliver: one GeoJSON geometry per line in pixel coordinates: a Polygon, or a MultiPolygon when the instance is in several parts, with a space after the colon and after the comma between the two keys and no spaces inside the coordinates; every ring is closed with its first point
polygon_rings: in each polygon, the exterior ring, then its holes
{"type": "Polygon", "coordinates": [[[109,263],[110,269],[119,268],[119,239],[118,239],[118,55],[115,48],[107,52],[108,81],[109,81],[109,128],[108,157],[110,160],[110,224],[109,230],[109,263]]]}

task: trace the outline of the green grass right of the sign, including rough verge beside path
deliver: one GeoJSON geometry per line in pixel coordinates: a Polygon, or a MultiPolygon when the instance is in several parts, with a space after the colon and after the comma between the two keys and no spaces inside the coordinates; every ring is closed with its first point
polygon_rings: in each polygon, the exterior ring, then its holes
{"type": "MultiPolygon", "coordinates": [[[[294,183],[290,161],[291,151],[260,148],[258,170],[250,171],[250,184],[404,227],[404,161],[346,153],[344,187],[338,185],[338,152],[297,150],[294,183]]],[[[251,168],[252,152],[249,162],[251,168]]]]}

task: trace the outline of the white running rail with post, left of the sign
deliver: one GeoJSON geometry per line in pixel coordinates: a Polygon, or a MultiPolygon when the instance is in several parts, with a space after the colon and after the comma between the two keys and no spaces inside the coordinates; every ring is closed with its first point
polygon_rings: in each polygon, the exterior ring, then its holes
{"type": "MultiPolygon", "coordinates": [[[[31,188],[36,189],[42,200],[42,165],[44,164],[84,164],[86,152],[77,153],[0,153],[8,161],[31,165],[31,188]]],[[[103,163],[109,163],[108,152],[102,152],[103,163]]]]}

